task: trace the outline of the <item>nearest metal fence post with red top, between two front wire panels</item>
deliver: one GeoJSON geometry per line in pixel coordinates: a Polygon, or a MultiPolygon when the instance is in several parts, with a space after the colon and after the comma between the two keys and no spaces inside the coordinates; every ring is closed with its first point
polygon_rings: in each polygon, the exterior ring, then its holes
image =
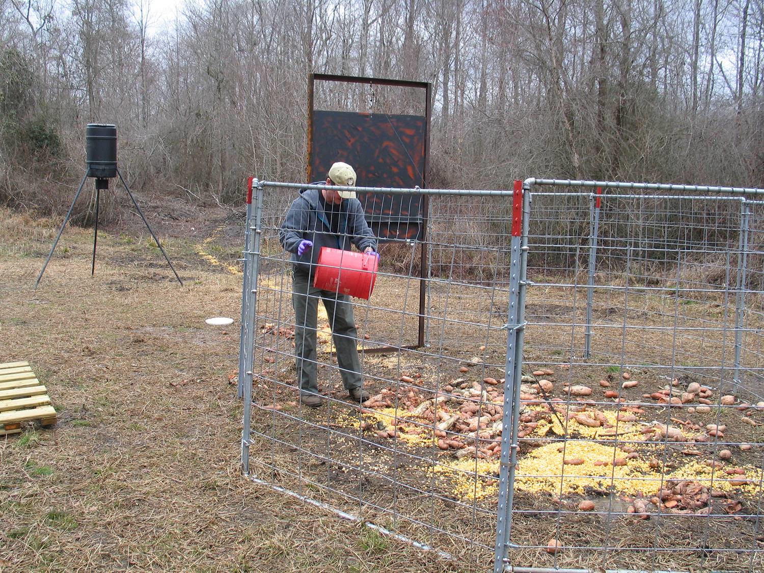
{"type": "Polygon", "coordinates": [[[504,364],[504,406],[501,418],[501,458],[494,573],[504,570],[510,545],[512,503],[520,428],[520,379],[523,376],[526,263],[530,216],[530,185],[515,181],[510,241],[510,297],[507,313],[507,359],[504,364]]]}

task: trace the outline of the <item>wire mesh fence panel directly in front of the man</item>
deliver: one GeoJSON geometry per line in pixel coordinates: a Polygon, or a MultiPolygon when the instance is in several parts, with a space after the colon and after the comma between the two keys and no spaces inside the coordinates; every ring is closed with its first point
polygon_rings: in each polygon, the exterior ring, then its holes
{"type": "Polygon", "coordinates": [[[293,265],[278,236],[297,189],[266,184],[262,194],[251,429],[244,436],[250,474],[478,570],[490,564],[498,476],[488,460],[499,451],[509,300],[497,263],[506,242],[483,244],[473,257],[462,247],[458,222],[474,218],[474,209],[492,213],[511,194],[430,197],[443,210],[431,220],[439,263],[428,280],[426,347],[410,348],[419,325],[422,245],[381,248],[373,296],[351,302],[371,396],[361,406],[343,387],[332,321],[319,305],[309,333],[316,336],[324,399],[316,409],[299,399],[293,265]]]}

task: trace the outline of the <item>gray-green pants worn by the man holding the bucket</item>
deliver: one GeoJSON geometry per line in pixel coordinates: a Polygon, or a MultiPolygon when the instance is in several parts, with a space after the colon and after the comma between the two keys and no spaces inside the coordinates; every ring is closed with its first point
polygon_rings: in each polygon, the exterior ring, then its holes
{"type": "Polygon", "coordinates": [[[358,330],[355,328],[350,297],[312,286],[305,274],[295,273],[292,281],[292,306],[297,382],[301,393],[319,393],[316,373],[316,323],[319,297],[324,301],[332,338],[337,349],[337,362],[342,384],[347,390],[361,387],[361,360],[358,358],[358,330]]]}

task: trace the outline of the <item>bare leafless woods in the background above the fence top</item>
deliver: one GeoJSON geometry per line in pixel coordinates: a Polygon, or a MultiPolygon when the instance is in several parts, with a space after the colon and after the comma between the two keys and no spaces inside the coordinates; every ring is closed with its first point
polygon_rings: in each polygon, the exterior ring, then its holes
{"type": "MultiPolygon", "coordinates": [[[[303,177],[310,72],[432,82],[439,185],[764,183],[762,0],[205,0],[160,33],[151,14],[0,0],[32,115],[70,156],[84,123],[117,123],[147,189],[235,201],[247,174],[303,177]]],[[[408,92],[322,90],[332,108],[421,112],[408,92]]]]}

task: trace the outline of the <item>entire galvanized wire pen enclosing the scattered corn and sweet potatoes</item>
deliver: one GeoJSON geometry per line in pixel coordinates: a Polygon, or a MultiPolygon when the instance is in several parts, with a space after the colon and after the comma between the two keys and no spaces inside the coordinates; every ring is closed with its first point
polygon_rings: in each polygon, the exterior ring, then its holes
{"type": "Polygon", "coordinates": [[[764,569],[762,203],[601,187],[364,189],[426,195],[429,218],[347,303],[359,404],[339,305],[298,316],[279,235],[299,186],[255,182],[245,471],[458,570],[764,569]]]}

